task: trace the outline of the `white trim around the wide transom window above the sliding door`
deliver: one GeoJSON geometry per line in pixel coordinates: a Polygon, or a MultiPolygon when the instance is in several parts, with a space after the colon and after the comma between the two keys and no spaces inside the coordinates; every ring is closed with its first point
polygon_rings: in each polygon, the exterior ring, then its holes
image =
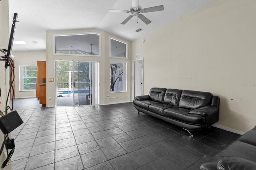
{"type": "Polygon", "coordinates": [[[97,32],[82,32],[82,33],[63,33],[63,34],[54,34],[52,35],[52,55],[64,55],[64,56],[86,56],[86,57],[101,57],[101,33],[97,32]],[[85,34],[97,34],[100,36],[99,38],[99,54],[100,55],[78,55],[78,54],[57,54],[55,53],[55,47],[56,47],[56,36],[65,36],[65,35],[85,35],[85,34]]]}

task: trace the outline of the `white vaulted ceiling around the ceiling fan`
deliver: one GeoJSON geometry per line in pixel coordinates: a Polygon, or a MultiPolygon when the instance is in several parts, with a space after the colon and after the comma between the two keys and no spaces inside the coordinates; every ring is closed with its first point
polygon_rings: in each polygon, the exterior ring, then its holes
{"type": "Polygon", "coordinates": [[[142,8],[164,5],[164,11],[143,14],[152,21],[148,25],[136,16],[121,25],[130,13],[108,12],[108,9],[130,10],[132,0],[9,0],[10,24],[15,12],[20,21],[14,40],[26,42],[13,45],[12,50],[45,50],[47,30],[95,28],[133,41],[209,2],[212,0],[139,0],[142,8]],[[143,31],[137,33],[138,28],[143,31]]]}

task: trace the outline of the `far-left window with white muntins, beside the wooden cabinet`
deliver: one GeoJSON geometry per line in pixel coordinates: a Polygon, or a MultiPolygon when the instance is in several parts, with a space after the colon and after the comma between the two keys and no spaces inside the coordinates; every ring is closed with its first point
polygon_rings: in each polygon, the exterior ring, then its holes
{"type": "Polygon", "coordinates": [[[36,90],[37,66],[19,66],[20,91],[36,90]]]}

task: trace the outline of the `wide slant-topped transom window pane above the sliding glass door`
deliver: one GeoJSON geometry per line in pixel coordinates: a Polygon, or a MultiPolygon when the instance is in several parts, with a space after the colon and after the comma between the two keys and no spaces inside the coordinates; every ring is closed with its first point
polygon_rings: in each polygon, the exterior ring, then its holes
{"type": "Polygon", "coordinates": [[[58,55],[100,56],[100,34],[55,35],[54,49],[58,55]]]}

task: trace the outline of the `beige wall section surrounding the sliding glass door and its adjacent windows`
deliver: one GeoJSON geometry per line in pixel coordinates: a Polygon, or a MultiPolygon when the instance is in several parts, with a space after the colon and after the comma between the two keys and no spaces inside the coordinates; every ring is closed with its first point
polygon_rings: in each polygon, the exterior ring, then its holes
{"type": "MultiPolygon", "coordinates": [[[[109,38],[116,37],[108,32],[98,29],[84,29],[84,30],[64,30],[64,31],[47,31],[46,33],[46,80],[48,78],[54,78],[54,82],[46,81],[46,107],[54,107],[55,104],[55,62],[56,60],[62,61],[97,61],[100,64],[100,104],[112,104],[119,102],[130,102],[130,76],[128,76],[128,88],[127,92],[110,93],[110,57],[109,57],[109,38]],[[83,56],[64,56],[53,55],[53,36],[56,34],[68,34],[68,33],[85,33],[96,32],[101,34],[101,57],[83,57],[83,56]],[[106,96],[110,96],[109,99],[106,96]],[[48,100],[51,97],[52,100],[48,100]]],[[[122,41],[125,41],[130,46],[131,42],[120,37],[116,37],[122,41]]],[[[128,54],[131,54],[129,49],[128,54]]],[[[130,58],[128,59],[116,59],[120,61],[128,61],[127,72],[131,72],[130,58]]]]}

